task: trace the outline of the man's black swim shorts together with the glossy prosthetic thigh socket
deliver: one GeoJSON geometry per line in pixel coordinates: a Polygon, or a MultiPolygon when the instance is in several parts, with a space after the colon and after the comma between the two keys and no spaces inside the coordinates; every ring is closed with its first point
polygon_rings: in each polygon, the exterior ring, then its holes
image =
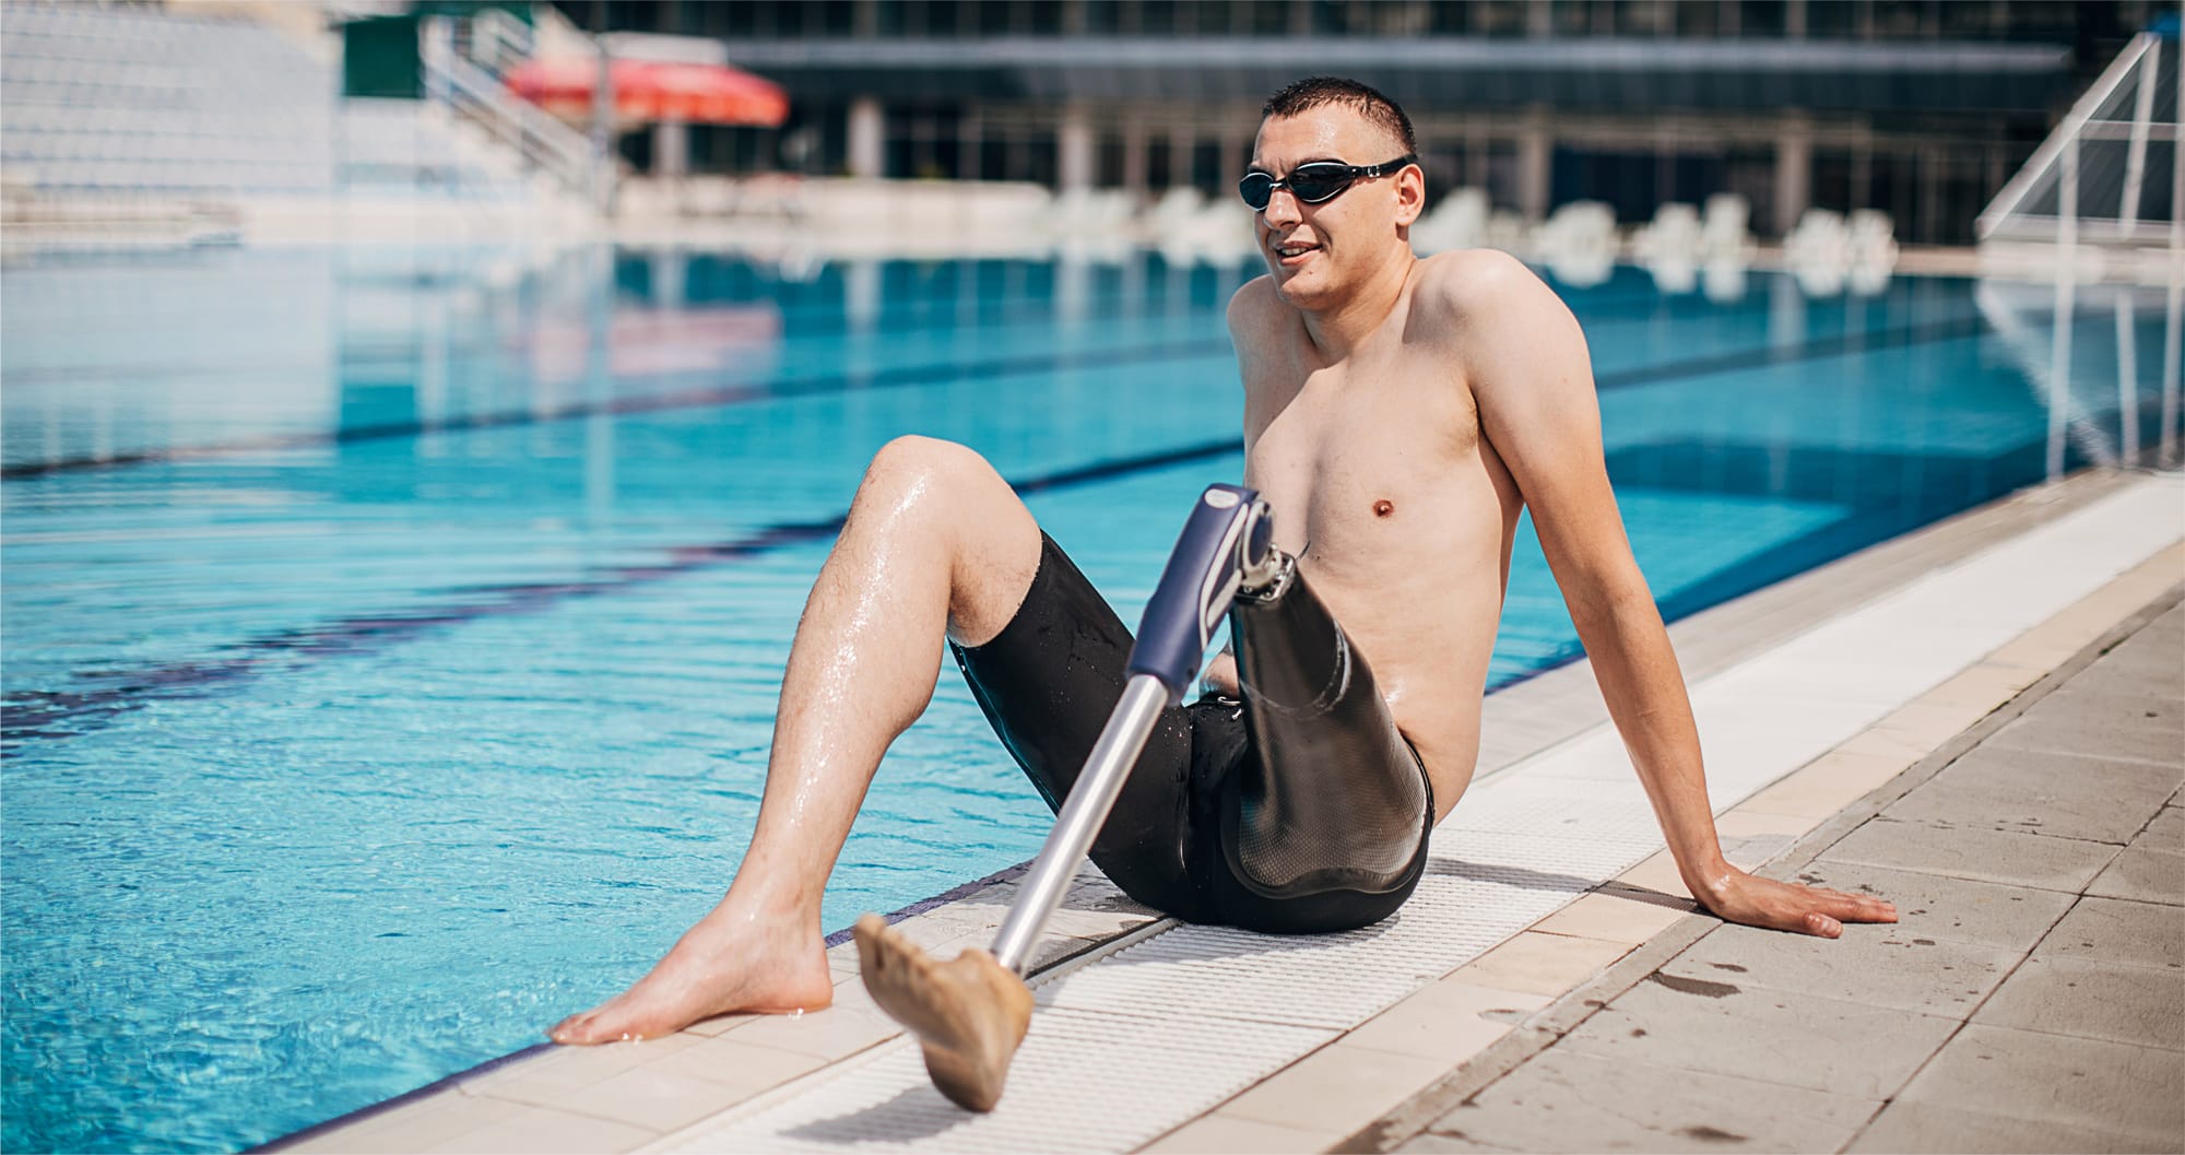
{"type": "MultiPolygon", "coordinates": [[[[1278,608],[1241,602],[1230,619],[1250,702],[1160,713],[1092,862],[1132,899],[1195,923],[1304,934],[1390,917],[1418,886],[1433,827],[1418,752],[1302,578],[1278,608]]],[[[1130,645],[1051,538],[1001,634],[950,645],[1051,809],[1123,696],[1130,645]]]]}

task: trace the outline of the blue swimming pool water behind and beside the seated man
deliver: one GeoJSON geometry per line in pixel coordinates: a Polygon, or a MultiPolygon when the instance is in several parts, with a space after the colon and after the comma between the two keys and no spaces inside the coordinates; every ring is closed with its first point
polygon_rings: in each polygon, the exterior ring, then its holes
{"type": "MultiPolygon", "coordinates": [[[[642,973],[734,873],[804,588],[889,438],[985,453],[1127,619],[1241,470],[1243,273],[1151,256],[0,276],[11,1151],[256,1144],[642,973]]],[[[2161,311],[2076,313],[2058,389],[2050,322],[1971,282],[1564,295],[1672,617],[2159,435],[2161,311]]],[[[1495,682],[1575,645],[1527,536],[1495,682]]],[[[1044,822],[948,672],[826,923],[1020,862],[1044,822]]]]}

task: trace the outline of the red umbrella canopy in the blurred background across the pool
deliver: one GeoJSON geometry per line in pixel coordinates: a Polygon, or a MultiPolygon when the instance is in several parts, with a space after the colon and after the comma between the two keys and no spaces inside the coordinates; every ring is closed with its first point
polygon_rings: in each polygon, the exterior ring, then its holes
{"type": "MultiPolygon", "coordinates": [[[[533,59],[509,70],[509,92],[568,118],[592,116],[599,61],[583,57],[533,59]]],[[[614,116],[621,120],[684,120],[690,125],[780,127],[789,96],[767,79],[725,63],[669,63],[618,59],[607,66],[614,116]]]]}

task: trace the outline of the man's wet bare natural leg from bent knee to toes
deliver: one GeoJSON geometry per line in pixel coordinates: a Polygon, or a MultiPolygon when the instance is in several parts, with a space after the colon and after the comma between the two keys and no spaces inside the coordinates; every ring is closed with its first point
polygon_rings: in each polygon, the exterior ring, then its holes
{"type": "Polygon", "coordinates": [[[1038,523],[977,453],[929,438],[883,446],[789,648],[758,829],[728,897],[636,987],[548,1035],[649,1039],[728,1011],[832,1002],[819,897],[872,772],[933,698],[944,630],[990,641],[1038,564],[1038,523]]]}

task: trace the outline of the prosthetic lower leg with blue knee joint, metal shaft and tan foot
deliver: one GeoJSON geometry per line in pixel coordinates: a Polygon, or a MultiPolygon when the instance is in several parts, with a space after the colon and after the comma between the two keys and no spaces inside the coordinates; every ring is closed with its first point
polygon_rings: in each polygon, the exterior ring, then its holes
{"type": "Polygon", "coordinates": [[[992,952],[968,949],[937,962],[878,914],[859,919],[865,989],[918,1035],[926,1074],[953,1102],[992,1111],[1001,1100],[1009,1059],[1031,1026],[1031,991],[1023,980],[1031,947],[1108,820],[1160,711],[1180,704],[1191,689],[1230,602],[1287,578],[1289,560],[1274,549],[1272,529],[1269,510],[1254,490],[1208,486],[1200,494],[1145,606],[1123,700],[1031,862],[992,952]]]}

